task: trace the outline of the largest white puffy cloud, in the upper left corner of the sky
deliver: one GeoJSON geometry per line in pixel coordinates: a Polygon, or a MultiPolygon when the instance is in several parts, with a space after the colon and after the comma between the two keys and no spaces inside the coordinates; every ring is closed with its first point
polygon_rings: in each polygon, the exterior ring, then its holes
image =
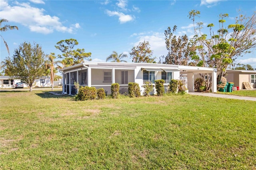
{"type": "Polygon", "coordinates": [[[1,1],[1,17],[8,18],[11,22],[20,23],[30,29],[32,32],[50,34],[54,30],[59,32],[74,33],[79,24],[73,24],[70,27],[63,26],[60,18],[44,14],[43,8],[35,8],[29,3],[15,2],[15,6],[9,5],[6,1],[1,1]]]}

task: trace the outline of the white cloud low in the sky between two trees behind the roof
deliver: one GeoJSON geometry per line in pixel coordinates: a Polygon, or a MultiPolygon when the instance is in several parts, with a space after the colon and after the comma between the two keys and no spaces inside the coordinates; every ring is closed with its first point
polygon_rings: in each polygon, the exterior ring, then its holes
{"type": "MultiPolygon", "coordinates": [[[[133,34],[135,35],[135,34],[133,34]]],[[[165,36],[163,33],[159,32],[148,32],[148,33],[138,33],[138,42],[133,43],[133,46],[137,46],[140,42],[148,41],[150,43],[150,49],[153,50],[153,56],[157,57],[155,61],[158,61],[158,57],[161,55],[166,56],[168,53],[165,47],[165,36]]]]}

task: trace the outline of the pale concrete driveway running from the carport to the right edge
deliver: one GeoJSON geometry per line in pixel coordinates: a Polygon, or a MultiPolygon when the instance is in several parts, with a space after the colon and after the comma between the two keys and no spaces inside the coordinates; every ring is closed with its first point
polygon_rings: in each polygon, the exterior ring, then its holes
{"type": "Polygon", "coordinates": [[[208,97],[220,97],[220,98],[226,98],[226,99],[256,101],[256,97],[243,97],[243,96],[235,96],[235,95],[222,95],[222,94],[216,94],[216,93],[198,93],[198,92],[189,92],[188,94],[198,95],[198,96],[208,96],[208,97]]]}

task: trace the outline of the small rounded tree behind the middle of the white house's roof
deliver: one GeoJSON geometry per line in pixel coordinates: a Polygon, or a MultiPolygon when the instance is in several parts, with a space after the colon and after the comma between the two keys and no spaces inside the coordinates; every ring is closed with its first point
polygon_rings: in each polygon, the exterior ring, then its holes
{"type": "Polygon", "coordinates": [[[153,52],[150,49],[150,44],[145,40],[144,42],[140,42],[137,47],[133,47],[130,55],[132,57],[132,62],[134,63],[156,63],[156,58],[151,57],[153,52]]]}

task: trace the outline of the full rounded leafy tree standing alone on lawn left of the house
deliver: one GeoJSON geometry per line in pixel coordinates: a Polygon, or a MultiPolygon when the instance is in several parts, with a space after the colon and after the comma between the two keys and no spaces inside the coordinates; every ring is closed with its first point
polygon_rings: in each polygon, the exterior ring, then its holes
{"type": "Polygon", "coordinates": [[[42,47],[24,42],[15,49],[12,58],[5,59],[6,75],[26,81],[32,91],[34,81],[45,74],[45,54],[42,47]]]}

